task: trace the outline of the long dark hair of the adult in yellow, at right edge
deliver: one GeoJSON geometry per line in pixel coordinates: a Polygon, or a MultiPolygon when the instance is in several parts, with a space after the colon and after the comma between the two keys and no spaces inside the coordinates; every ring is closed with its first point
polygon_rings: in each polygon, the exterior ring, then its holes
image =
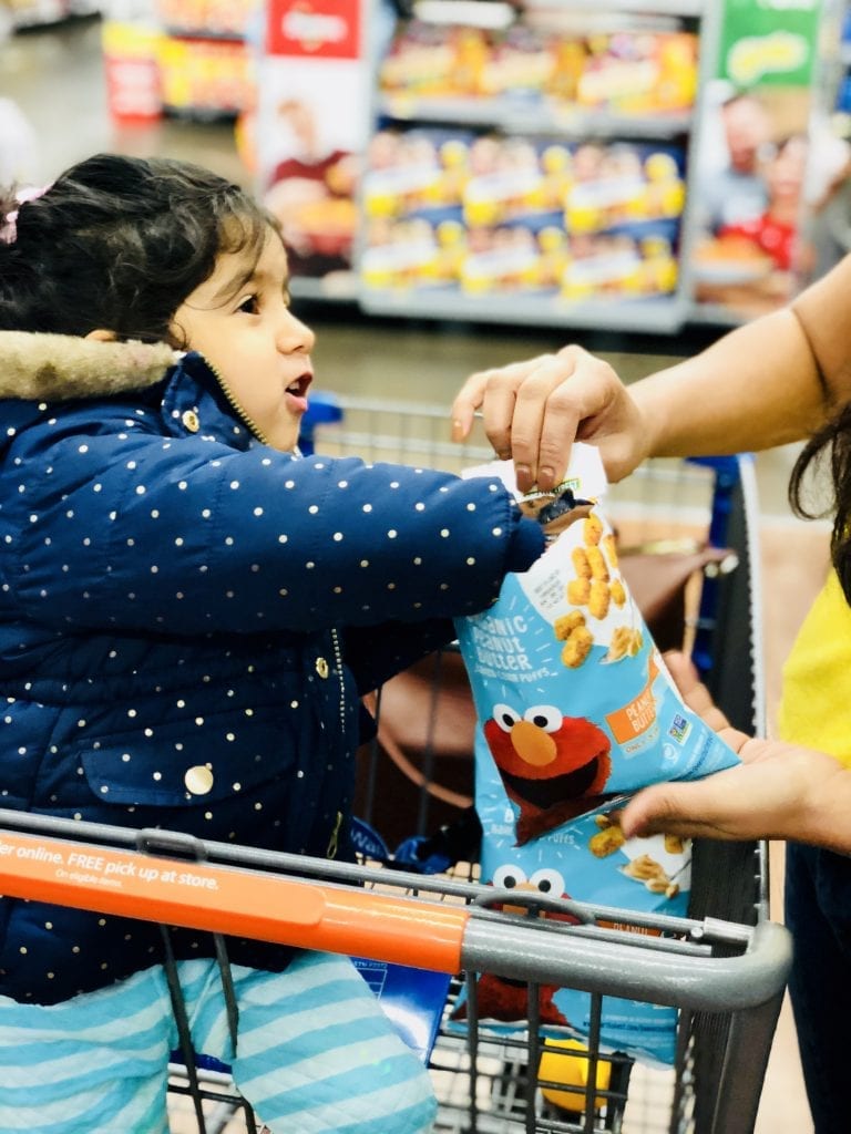
{"type": "Polygon", "coordinates": [[[798,516],[816,519],[833,513],[831,560],[851,603],[851,404],[815,433],[798,455],[789,482],[789,500],[798,516]],[[820,466],[831,473],[828,507],[815,508],[803,502],[804,479],[820,466]]]}

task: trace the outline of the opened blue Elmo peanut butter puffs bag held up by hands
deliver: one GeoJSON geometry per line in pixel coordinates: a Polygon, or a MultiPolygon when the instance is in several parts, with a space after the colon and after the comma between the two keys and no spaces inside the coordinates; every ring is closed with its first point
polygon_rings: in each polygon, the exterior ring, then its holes
{"type": "Polygon", "coordinates": [[[519,846],[608,796],[738,762],[683,704],[632,601],[598,503],[597,449],[573,452],[566,489],[531,506],[549,548],[505,578],[495,606],[455,624],[519,846]]]}

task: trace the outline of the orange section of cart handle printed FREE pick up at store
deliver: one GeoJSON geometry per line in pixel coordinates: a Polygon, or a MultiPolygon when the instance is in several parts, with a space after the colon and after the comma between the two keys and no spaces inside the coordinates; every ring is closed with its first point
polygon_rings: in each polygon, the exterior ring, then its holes
{"type": "Polygon", "coordinates": [[[461,967],[470,917],[463,906],[8,829],[0,894],[443,973],[461,967]]]}

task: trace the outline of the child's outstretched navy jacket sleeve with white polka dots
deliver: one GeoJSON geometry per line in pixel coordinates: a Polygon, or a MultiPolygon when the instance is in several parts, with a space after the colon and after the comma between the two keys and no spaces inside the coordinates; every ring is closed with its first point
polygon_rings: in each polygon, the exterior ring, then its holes
{"type": "Polygon", "coordinates": [[[82,435],[61,418],[49,443],[32,433],[37,451],[22,437],[6,464],[0,574],[7,600],[48,625],[196,634],[449,618],[485,609],[544,548],[490,479],[138,429],[82,435]]]}

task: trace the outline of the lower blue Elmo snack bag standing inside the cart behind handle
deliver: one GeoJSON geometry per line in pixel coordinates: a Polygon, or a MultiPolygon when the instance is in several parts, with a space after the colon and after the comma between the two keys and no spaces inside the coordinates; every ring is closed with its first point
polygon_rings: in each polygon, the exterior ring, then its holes
{"type": "MultiPolygon", "coordinates": [[[[545,896],[584,899],[610,906],[621,914],[624,911],[685,914],[691,863],[688,840],[664,835],[624,839],[617,824],[617,806],[623,805],[625,797],[618,796],[604,807],[517,846],[512,805],[487,746],[481,743],[483,753],[477,745],[475,802],[483,829],[481,878],[495,888],[492,908],[550,921],[574,921],[570,913],[559,913],[549,902],[536,908],[536,896],[545,896]]],[[[612,931],[656,932],[629,921],[598,924],[612,931]]],[[[595,942],[589,940],[588,948],[592,950],[595,942]]],[[[525,1031],[528,996],[525,985],[495,973],[482,973],[477,982],[480,1030],[491,1035],[525,1031]]],[[[555,984],[538,988],[540,1030],[545,1036],[587,1042],[592,1031],[591,1008],[588,992],[555,984]]],[[[448,1030],[463,1034],[466,1018],[464,988],[452,1010],[448,1030]]],[[[646,1064],[671,1066],[676,1053],[676,1008],[604,997],[600,1051],[620,1051],[646,1064]]]]}

